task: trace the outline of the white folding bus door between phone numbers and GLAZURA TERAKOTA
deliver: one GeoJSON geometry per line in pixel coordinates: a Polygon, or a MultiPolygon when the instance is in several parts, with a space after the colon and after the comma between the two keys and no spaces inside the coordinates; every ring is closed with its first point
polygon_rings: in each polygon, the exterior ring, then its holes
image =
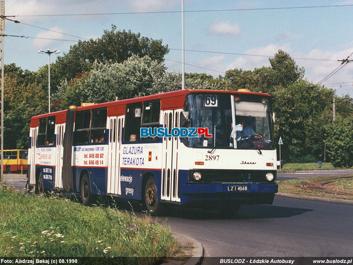
{"type": "Polygon", "coordinates": [[[120,188],[120,146],[123,118],[109,118],[107,193],[121,194],[120,188]]]}

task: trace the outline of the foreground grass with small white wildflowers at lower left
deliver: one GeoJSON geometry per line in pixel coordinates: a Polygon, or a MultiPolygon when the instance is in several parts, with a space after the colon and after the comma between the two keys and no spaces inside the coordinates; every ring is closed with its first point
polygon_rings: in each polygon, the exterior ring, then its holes
{"type": "Polygon", "coordinates": [[[154,264],[177,250],[170,229],[149,216],[57,196],[30,196],[0,184],[0,256],[138,256],[149,257],[141,260],[144,264],[154,264]]]}

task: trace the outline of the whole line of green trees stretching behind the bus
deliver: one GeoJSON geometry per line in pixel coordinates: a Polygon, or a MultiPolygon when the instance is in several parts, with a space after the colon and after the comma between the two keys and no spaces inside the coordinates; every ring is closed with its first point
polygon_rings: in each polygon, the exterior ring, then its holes
{"type": "MultiPolygon", "coordinates": [[[[131,31],[111,30],[89,41],[79,41],[50,65],[52,110],[81,102],[106,102],[181,89],[181,73],[164,66],[167,45],[131,31]]],[[[248,88],[272,95],[275,140],[285,162],[331,161],[353,166],[353,99],[304,79],[305,70],[278,50],[270,66],[252,71],[230,69],[224,76],[186,73],[188,89],[248,88]],[[332,99],[337,99],[336,123],[332,123],[332,99]],[[338,154],[338,155],[337,155],[338,154]]],[[[29,122],[46,113],[47,66],[36,72],[15,64],[5,67],[4,147],[27,148],[29,122]]]]}

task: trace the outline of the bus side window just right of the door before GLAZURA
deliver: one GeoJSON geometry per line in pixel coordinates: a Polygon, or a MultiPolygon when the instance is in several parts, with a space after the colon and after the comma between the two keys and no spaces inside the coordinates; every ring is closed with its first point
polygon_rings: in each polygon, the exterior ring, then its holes
{"type": "Polygon", "coordinates": [[[129,142],[130,136],[136,135],[136,141],[140,140],[142,103],[128,104],[125,114],[124,141],[129,142]]]}

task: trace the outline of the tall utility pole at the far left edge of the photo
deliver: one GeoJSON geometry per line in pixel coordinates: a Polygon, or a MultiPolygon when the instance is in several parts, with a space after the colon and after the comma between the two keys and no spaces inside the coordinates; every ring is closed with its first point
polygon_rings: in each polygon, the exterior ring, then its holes
{"type": "Polygon", "coordinates": [[[1,174],[0,182],[4,179],[4,39],[5,39],[5,1],[0,1],[0,43],[1,43],[1,174]]]}

